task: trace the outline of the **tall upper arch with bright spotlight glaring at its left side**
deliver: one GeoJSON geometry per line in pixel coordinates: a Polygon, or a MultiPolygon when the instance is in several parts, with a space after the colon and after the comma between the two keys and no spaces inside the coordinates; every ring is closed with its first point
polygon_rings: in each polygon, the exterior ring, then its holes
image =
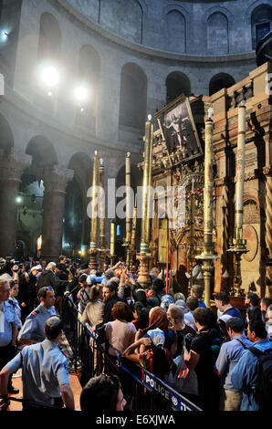
{"type": "Polygon", "coordinates": [[[94,47],[81,47],[78,61],[78,87],[86,89],[86,99],[79,99],[77,123],[95,131],[99,103],[100,58],[94,47]]]}

